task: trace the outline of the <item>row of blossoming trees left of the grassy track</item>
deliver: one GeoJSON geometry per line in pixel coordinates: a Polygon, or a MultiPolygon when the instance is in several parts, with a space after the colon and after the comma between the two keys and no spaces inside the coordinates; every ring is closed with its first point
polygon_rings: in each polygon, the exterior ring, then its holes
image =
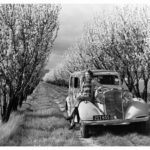
{"type": "Polygon", "coordinates": [[[58,32],[58,5],[0,5],[2,121],[22,106],[43,75],[58,32]]]}

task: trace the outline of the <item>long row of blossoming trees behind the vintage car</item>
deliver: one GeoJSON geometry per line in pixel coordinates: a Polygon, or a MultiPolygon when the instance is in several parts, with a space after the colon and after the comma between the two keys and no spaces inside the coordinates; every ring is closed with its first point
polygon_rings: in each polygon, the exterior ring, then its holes
{"type": "Polygon", "coordinates": [[[116,70],[128,89],[146,101],[150,78],[149,11],[148,7],[132,5],[94,17],[84,27],[81,39],[67,50],[63,64],[50,72],[47,80],[67,82],[70,72],[86,68],[116,70]]]}

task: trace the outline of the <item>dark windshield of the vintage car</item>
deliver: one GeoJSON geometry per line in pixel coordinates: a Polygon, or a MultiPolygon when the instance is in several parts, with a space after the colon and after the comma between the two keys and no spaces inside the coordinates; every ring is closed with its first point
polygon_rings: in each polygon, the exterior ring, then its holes
{"type": "Polygon", "coordinates": [[[94,80],[100,84],[119,85],[119,78],[116,75],[97,75],[94,77],[94,80]]]}

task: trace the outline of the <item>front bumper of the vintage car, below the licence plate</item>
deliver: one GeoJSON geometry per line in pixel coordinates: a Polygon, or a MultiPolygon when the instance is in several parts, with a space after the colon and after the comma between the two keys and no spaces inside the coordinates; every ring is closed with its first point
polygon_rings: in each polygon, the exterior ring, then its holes
{"type": "Polygon", "coordinates": [[[81,122],[85,125],[128,125],[134,122],[148,121],[149,116],[143,118],[133,118],[133,119],[117,119],[117,120],[105,120],[105,121],[93,121],[93,120],[82,120],[81,122]]]}

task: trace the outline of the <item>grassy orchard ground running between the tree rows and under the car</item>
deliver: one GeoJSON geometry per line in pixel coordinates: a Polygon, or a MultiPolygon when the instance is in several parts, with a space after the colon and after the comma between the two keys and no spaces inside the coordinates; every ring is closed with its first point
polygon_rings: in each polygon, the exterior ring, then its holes
{"type": "MultiPolygon", "coordinates": [[[[23,108],[0,126],[1,146],[150,146],[150,128],[94,126],[83,139],[79,128],[68,130],[65,120],[67,88],[40,83],[23,108]]],[[[149,124],[150,125],[150,124],[149,124]]]]}

